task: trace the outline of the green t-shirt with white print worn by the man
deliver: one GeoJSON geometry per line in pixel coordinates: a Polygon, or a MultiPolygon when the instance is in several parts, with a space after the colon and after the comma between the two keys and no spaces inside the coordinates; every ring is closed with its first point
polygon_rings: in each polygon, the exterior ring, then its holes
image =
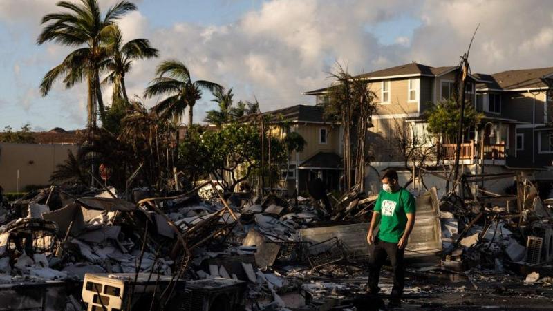
{"type": "Polygon", "coordinates": [[[382,190],[374,210],[381,216],[378,238],[384,242],[397,243],[405,232],[406,214],[415,214],[415,198],[403,188],[392,193],[382,190]]]}

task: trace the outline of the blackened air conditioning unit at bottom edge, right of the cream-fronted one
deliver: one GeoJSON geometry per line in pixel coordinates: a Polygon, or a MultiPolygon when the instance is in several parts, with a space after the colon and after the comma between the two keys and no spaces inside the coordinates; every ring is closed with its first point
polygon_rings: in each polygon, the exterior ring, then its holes
{"type": "Polygon", "coordinates": [[[182,311],[234,311],[241,310],[246,283],[233,279],[205,279],[187,281],[180,296],[182,311]]]}

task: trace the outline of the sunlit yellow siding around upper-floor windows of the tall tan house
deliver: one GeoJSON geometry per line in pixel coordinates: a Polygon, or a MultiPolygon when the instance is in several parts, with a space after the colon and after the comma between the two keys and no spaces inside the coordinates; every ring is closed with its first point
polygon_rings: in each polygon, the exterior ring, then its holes
{"type": "MultiPolygon", "coordinates": [[[[418,78],[418,77],[415,77],[418,78]]],[[[377,115],[397,113],[417,113],[417,102],[408,102],[409,79],[390,79],[390,102],[382,103],[382,81],[368,84],[368,88],[375,92],[379,103],[377,115]]]]}

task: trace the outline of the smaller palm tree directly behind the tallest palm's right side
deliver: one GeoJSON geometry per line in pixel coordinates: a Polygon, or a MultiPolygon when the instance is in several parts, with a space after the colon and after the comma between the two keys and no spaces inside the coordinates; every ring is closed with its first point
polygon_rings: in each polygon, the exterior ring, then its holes
{"type": "Polygon", "coordinates": [[[134,59],[148,59],[158,57],[158,50],[152,48],[148,39],[134,39],[123,44],[119,27],[115,27],[107,40],[109,58],[104,61],[104,66],[109,70],[109,75],[102,84],[113,83],[113,99],[124,98],[129,102],[126,94],[125,74],[131,70],[134,59]]]}

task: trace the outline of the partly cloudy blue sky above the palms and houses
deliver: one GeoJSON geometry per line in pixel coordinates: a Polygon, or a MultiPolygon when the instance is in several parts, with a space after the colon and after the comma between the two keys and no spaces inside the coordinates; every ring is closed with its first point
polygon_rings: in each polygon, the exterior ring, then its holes
{"type": "MultiPolygon", "coordinates": [[[[77,1],[77,0],[73,0],[77,1]]],[[[37,46],[41,17],[55,0],[0,0],[0,131],[86,124],[86,86],[55,84],[39,94],[44,74],[71,51],[37,46]]],[[[99,0],[108,8],[116,0],[99,0]]],[[[314,104],[304,91],[328,86],[337,64],[350,73],[418,62],[454,66],[480,23],[470,53],[473,73],[553,66],[553,1],[547,0],[138,0],[120,20],[124,39],[146,38],[158,59],[137,61],[126,76],[142,95],[163,59],[185,62],[193,79],[233,88],[235,100],[261,111],[314,104]]],[[[111,102],[111,87],[103,90],[111,102]]],[[[205,93],[194,121],[216,104],[205,93]]],[[[147,100],[153,106],[162,98],[147,100]]],[[[183,120],[187,120],[183,118],[183,120]]]]}

